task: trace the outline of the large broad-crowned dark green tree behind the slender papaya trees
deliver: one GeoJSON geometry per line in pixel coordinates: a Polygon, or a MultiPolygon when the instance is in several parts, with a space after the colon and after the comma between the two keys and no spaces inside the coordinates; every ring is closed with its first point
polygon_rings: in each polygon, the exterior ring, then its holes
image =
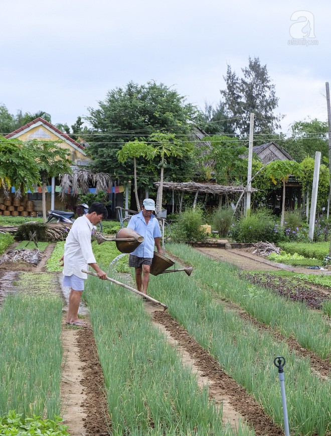
{"type": "MultiPolygon", "coordinates": [[[[135,139],[148,142],[148,136],[155,132],[189,134],[192,123],[198,117],[198,110],[192,104],[185,103],[185,97],[163,83],[147,82],[139,85],[129,82],[125,88],[108,91],[106,98],[99,101],[99,107],[89,108],[87,122],[91,125],[92,137],[84,136],[90,144],[88,153],[93,159],[91,169],[105,171],[123,180],[129,180],[133,174],[133,162],[125,166],[118,162],[117,152],[123,144],[135,139]],[[93,141],[89,141],[93,138],[93,141]]],[[[150,173],[144,168],[137,171],[150,179],[150,173]]],[[[181,176],[182,169],[173,168],[181,176]]]]}

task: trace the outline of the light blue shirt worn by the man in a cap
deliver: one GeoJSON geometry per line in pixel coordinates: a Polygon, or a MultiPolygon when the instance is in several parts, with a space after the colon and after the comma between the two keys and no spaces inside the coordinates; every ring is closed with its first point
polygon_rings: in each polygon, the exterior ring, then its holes
{"type": "Polygon", "coordinates": [[[127,225],[128,228],[133,229],[139,235],[143,236],[143,242],[131,254],[137,257],[153,257],[154,256],[154,238],[160,238],[161,231],[153,214],[150,215],[150,220],[146,224],[142,215],[142,211],[133,215],[127,225]]]}

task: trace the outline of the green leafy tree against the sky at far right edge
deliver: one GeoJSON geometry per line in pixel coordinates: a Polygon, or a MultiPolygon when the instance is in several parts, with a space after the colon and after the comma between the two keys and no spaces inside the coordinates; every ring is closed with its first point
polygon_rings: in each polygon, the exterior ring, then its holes
{"type": "Polygon", "coordinates": [[[284,141],[284,149],[295,159],[301,162],[305,157],[315,157],[320,151],[322,156],[328,158],[327,122],[316,118],[296,121],[291,125],[292,135],[284,141]]]}

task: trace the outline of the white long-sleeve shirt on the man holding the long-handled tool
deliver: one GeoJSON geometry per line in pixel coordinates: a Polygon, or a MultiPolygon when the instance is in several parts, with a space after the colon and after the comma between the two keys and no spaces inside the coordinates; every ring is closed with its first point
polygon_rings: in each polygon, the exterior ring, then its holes
{"type": "Polygon", "coordinates": [[[92,228],[85,215],[74,221],[64,245],[63,275],[87,278],[82,269],[87,270],[89,263],[96,263],[91,246],[92,228]]]}

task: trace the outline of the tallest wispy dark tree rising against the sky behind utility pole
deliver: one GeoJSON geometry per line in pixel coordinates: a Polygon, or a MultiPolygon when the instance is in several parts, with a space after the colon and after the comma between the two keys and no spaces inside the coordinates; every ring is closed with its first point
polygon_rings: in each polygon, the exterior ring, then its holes
{"type": "Polygon", "coordinates": [[[242,68],[239,78],[228,65],[224,77],[226,88],[221,90],[225,114],[240,135],[249,135],[250,114],[254,113],[254,133],[273,133],[280,128],[281,115],[275,115],[278,98],[275,85],[269,77],[267,66],[260,59],[248,58],[248,66],[242,68]]]}

